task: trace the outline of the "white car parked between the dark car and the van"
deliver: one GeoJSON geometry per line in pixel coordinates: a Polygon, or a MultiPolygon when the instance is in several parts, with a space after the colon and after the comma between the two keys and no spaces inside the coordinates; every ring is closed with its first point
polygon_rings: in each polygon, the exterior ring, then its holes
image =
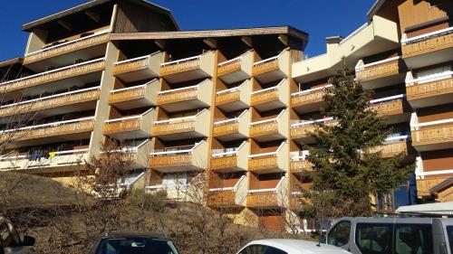
{"type": "Polygon", "coordinates": [[[237,254],[351,254],[350,252],[315,241],[293,239],[254,240],[237,254]]]}

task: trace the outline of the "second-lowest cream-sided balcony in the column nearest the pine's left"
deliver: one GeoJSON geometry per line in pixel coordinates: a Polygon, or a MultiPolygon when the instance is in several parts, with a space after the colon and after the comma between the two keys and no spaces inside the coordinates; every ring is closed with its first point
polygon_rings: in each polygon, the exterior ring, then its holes
{"type": "Polygon", "coordinates": [[[256,174],[286,172],[287,154],[286,143],[282,142],[275,152],[248,155],[248,171],[256,174]]]}

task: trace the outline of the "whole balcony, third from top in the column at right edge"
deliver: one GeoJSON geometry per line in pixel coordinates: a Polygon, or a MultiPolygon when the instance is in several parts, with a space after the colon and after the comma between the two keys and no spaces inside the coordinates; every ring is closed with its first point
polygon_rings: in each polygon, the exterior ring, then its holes
{"type": "Polygon", "coordinates": [[[412,146],[419,152],[453,148],[453,118],[411,123],[412,146]]]}

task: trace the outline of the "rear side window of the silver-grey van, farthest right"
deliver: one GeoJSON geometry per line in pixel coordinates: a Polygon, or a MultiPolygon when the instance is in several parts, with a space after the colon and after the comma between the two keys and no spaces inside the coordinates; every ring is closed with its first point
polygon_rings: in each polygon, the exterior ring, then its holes
{"type": "Polygon", "coordinates": [[[430,224],[397,224],[395,226],[395,254],[432,254],[430,224]]]}

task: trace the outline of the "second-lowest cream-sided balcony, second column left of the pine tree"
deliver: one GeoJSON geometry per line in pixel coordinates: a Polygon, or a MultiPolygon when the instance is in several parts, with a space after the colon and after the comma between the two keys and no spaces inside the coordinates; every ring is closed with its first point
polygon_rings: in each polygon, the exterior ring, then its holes
{"type": "Polygon", "coordinates": [[[232,149],[213,149],[211,170],[217,173],[246,171],[250,144],[244,141],[241,146],[232,149]]]}

